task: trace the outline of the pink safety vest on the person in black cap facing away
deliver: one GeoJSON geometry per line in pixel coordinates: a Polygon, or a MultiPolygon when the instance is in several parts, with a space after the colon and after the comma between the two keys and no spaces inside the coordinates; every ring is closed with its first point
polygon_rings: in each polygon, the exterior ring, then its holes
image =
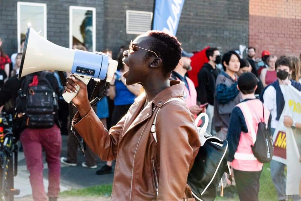
{"type": "MultiPolygon", "coordinates": [[[[241,132],[232,167],[240,171],[261,171],[263,164],[252,153],[251,145],[256,141],[258,123],[263,120],[262,102],[258,99],[248,100],[236,105],[242,111],[248,133],[241,132]]],[[[267,125],[270,111],[264,107],[264,121],[267,125]]]]}

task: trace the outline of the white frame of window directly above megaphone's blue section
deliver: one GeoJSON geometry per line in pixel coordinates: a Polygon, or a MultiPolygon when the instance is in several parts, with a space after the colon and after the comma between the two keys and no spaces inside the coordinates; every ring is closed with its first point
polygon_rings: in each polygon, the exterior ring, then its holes
{"type": "Polygon", "coordinates": [[[92,51],[96,51],[96,8],[94,7],[84,7],[84,6],[69,6],[69,48],[72,49],[72,11],[75,10],[92,10],[92,51]]]}

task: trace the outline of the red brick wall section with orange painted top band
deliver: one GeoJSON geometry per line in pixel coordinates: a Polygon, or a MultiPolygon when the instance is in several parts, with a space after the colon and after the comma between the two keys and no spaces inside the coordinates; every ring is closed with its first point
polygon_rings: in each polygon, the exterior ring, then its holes
{"type": "Polygon", "coordinates": [[[250,0],[249,14],[249,46],[256,47],[256,57],[263,50],[276,56],[300,55],[300,0],[250,0]]]}

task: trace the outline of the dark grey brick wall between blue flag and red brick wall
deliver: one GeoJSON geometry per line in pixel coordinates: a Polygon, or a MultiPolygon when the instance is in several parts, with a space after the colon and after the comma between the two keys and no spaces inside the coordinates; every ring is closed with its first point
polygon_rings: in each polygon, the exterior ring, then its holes
{"type": "Polygon", "coordinates": [[[218,46],[222,52],[248,45],[248,0],[185,0],[177,37],[185,51],[218,46]]]}

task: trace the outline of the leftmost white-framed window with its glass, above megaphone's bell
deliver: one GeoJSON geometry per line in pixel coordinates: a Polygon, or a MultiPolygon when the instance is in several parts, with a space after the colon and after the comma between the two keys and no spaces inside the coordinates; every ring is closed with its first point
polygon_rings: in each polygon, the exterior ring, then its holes
{"type": "Polygon", "coordinates": [[[20,52],[20,41],[25,38],[26,30],[29,24],[36,31],[41,31],[47,39],[47,14],[45,3],[17,3],[17,21],[18,21],[18,52],[20,52]]]}

